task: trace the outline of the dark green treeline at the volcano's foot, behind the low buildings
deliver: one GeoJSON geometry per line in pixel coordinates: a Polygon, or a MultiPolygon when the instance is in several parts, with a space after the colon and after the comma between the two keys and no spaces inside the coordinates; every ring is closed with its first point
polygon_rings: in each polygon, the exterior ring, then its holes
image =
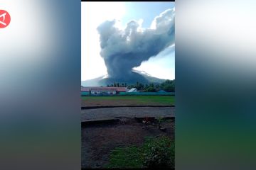
{"type": "Polygon", "coordinates": [[[110,84],[107,86],[112,87],[127,87],[128,89],[136,88],[138,91],[144,91],[144,92],[156,92],[160,90],[168,91],[168,92],[174,92],[175,91],[175,80],[166,80],[161,84],[141,84],[137,82],[136,84],[128,85],[126,83],[116,83],[110,84]]]}

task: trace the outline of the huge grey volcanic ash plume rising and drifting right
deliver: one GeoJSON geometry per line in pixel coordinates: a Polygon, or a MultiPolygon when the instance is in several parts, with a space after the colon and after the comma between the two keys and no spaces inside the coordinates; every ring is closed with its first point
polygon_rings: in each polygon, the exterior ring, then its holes
{"type": "Polygon", "coordinates": [[[139,22],[130,21],[124,30],[120,30],[115,23],[105,21],[97,28],[100,33],[100,55],[111,78],[131,76],[132,68],[139,67],[142,62],[174,45],[175,8],[154,18],[153,28],[142,29],[139,22]]]}

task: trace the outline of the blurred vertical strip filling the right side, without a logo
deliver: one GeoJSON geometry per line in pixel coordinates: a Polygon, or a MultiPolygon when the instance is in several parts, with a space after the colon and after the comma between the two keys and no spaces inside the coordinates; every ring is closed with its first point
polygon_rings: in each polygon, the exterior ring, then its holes
{"type": "Polygon", "coordinates": [[[256,1],[176,1],[176,170],[256,169],[256,1]]]}

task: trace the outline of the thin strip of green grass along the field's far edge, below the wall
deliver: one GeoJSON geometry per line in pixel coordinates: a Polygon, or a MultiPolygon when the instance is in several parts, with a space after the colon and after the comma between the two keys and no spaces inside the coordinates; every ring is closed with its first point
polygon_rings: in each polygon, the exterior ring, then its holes
{"type": "Polygon", "coordinates": [[[82,100],[87,101],[126,101],[133,100],[137,103],[159,103],[159,104],[172,104],[174,105],[175,96],[82,96],[82,100]]]}

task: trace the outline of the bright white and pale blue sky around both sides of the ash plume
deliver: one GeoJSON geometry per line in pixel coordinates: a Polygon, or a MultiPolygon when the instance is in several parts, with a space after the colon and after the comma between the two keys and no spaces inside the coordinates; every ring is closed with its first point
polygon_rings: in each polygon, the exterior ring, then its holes
{"type": "MultiPolygon", "coordinates": [[[[174,2],[82,2],[82,57],[81,80],[107,74],[104,60],[100,57],[100,39],[97,26],[106,20],[117,19],[119,28],[125,28],[131,20],[142,21],[142,28],[150,28],[152,21],[174,2]]],[[[174,47],[134,68],[161,79],[175,79],[174,47]]]]}

